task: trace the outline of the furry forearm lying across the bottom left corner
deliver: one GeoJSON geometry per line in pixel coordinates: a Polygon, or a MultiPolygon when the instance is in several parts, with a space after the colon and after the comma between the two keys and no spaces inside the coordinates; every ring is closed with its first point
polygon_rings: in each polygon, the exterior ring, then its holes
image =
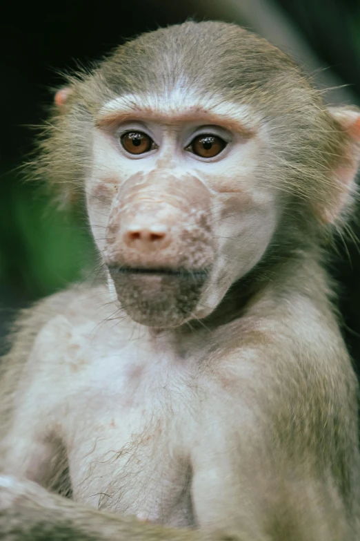
{"type": "MultiPolygon", "coordinates": [[[[221,536],[120,518],[75,504],[36,483],[0,477],[0,539],[4,541],[207,541],[221,536]]],[[[227,538],[230,541],[230,538],[227,538]]]]}

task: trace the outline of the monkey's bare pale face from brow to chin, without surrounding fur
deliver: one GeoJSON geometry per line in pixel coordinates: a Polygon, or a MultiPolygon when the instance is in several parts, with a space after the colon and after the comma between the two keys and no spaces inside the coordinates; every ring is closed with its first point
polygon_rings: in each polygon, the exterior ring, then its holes
{"type": "Polygon", "coordinates": [[[143,325],[210,314],[276,227],[274,195],[259,181],[266,137],[215,109],[149,113],[137,97],[129,120],[117,100],[94,131],[90,224],[110,287],[143,325]]]}

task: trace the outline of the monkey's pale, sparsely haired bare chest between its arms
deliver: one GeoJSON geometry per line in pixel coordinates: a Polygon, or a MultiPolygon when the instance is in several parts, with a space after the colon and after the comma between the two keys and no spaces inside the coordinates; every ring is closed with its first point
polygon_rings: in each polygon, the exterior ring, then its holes
{"type": "Polygon", "coordinates": [[[201,401],[191,361],[136,341],[105,352],[83,345],[72,357],[61,410],[76,500],[172,526],[194,524],[190,454],[201,401]]]}

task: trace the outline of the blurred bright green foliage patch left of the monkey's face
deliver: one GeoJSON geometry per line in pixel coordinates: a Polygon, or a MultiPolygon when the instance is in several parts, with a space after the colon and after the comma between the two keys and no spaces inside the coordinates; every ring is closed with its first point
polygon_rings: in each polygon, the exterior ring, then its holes
{"type": "Polygon", "coordinates": [[[10,296],[33,300],[96,272],[84,213],[58,211],[47,190],[30,182],[9,185],[9,197],[0,202],[0,282],[10,296]]]}

